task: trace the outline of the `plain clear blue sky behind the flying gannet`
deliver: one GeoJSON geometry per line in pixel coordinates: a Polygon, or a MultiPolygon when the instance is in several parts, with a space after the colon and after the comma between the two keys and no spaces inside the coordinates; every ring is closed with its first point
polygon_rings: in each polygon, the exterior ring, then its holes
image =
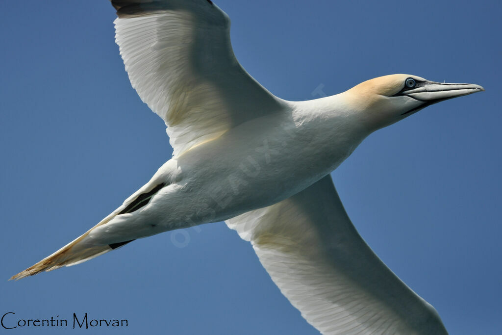
{"type": "MultiPolygon", "coordinates": [[[[499,333],[500,2],[216,3],[232,19],[239,61],[285,99],[392,73],[485,87],[372,134],[333,178],[368,245],[450,333],[499,333]]],[[[119,332],[131,334],[317,333],[221,222],[187,230],[184,248],[165,233],[7,281],[94,226],[171,156],[162,120],[128,81],[114,17],[106,0],[0,2],[0,313],[127,318],[119,332]]]]}

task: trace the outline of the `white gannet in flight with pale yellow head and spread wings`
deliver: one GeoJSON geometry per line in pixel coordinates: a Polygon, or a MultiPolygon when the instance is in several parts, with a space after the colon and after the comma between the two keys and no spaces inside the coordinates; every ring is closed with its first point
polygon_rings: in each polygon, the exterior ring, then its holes
{"type": "Polygon", "coordinates": [[[286,101],[240,66],[230,21],[210,0],[111,3],[129,78],[165,121],[173,158],[98,225],[11,279],[225,220],[322,333],[446,333],[358,235],[329,173],[373,131],[481,86],[394,74],[286,101]]]}

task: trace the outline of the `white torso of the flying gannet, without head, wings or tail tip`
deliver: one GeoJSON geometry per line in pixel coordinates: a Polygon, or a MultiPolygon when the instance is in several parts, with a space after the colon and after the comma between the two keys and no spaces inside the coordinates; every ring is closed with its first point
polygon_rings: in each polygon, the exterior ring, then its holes
{"type": "Polygon", "coordinates": [[[226,220],[298,193],[334,170],[369,135],[364,123],[351,122],[336,108],[340,99],[283,101],[281,110],[172,158],[122,207],[164,184],[148,204],[112,217],[88,238],[105,245],[130,241],[226,220]]]}

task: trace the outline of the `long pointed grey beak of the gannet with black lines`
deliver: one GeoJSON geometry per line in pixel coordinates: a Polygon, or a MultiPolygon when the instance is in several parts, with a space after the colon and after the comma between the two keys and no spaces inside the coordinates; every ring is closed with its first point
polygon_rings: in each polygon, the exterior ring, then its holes
{"type": "Polygon", "coordinates": [[[452,84],[425,81],[418,83],[415,88],[403,91],[402,95],[408,95],[409,97],[424,102],[439,102],[480,91],[484,91],[484,88],[476,84],[452,84]]]}

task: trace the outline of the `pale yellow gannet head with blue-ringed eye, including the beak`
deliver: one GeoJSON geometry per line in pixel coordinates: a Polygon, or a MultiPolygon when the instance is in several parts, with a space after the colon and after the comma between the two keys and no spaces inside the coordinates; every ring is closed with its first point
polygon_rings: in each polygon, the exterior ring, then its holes
{"type": "Polygon", "coordinates": [[[475,84],[441,83],[409,74],[391,74],[366,80],[347,90],[345,97],[376,130],[433,103],[480,91],[484,88],[475,84]]]}

